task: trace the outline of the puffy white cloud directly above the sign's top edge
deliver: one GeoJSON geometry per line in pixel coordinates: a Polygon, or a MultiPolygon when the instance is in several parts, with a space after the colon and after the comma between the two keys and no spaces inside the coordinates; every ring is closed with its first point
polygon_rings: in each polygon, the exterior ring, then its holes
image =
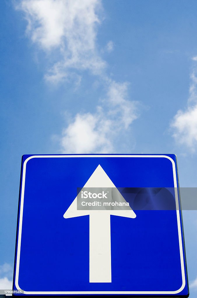
{"type": "Polygon", "coordinates": [[[63,130],[62,153],[114,152],[115,139],[138,117],[136,102],[127,98],[127,83],[109,82],[107,98],[94,114],[77,114],[63,130]]]}

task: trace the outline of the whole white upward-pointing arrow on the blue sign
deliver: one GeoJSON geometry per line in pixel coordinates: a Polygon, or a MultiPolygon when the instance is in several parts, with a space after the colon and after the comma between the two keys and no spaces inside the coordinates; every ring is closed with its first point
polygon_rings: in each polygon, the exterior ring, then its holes
{"type": "MultiPolygon", "coordinates": [[[[98,165],[84,187],[111,188],[116,186],[98,165]]],[[[126,202],[122,195],[121,201],[126,202]]],[[[111,232],[110,215],[136,218],[127,210],[77,210],[77,197],[64,213],[64,218],[90,215],[90,283],[111,283],[111,232]]]]}

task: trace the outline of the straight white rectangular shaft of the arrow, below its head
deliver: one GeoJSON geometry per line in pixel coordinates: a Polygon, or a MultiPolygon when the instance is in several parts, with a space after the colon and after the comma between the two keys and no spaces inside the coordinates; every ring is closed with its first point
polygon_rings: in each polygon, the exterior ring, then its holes
{"type": "Polygon", "coordinates": [[[90,283],[111,283],[111,231],[107,212],[90,214],[90,283]]]}

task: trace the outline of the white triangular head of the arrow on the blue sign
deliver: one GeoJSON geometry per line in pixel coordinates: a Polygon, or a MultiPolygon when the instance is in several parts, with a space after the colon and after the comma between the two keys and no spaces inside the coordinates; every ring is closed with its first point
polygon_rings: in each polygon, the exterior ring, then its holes
{"type": "MultiPolygon", "coordinates": [[[[93,174],[90,176],[84,187],[99,187],[99,188],[116,188],[111,179],[107,176],[101,165],[99,164],[93,174]]],[[[118,191],[116,189],[116,191],[118,191]]],[[[118,192],[118,195],[121,197],[121,201],[126,202],[121,193],[118,192]]],[[[131,209],[131,207],[127,207],[127,210],[77,210],[77,197],[74,199],[73,203],[64,213],[64,218],[78,217],[84,215],[91,215],[94,213],[106,212],[109,215],[123,216],[129,218],[136,218],[135,212],[131,209]]]]}

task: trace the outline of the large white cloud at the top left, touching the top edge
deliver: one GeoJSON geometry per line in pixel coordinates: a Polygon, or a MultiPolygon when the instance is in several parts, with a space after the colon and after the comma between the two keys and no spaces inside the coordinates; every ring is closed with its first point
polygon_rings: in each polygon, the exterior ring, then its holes
{"type": "Polygon", "coordinates": [[[33,43],[44,51],[57,51],[47,80],[64,80],[71,69],[89,69],[94,74],[104,69],[106,63],[96,47],[100,0],[22,0],[17,9],[25,14],[33,43]]]}

